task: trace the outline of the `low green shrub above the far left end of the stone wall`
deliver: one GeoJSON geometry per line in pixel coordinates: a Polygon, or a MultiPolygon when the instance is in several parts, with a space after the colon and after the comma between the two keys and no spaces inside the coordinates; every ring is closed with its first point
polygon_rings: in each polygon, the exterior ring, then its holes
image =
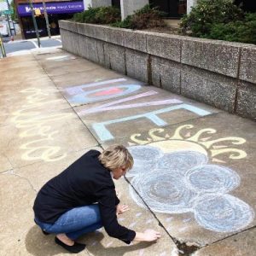
{"type": "Polygon", "coordinates": [[[110,24],[121,20],[119,9],[108,6],[85,10],[83,13],[73,15],[73,20],[82,23],[110,24]]]}

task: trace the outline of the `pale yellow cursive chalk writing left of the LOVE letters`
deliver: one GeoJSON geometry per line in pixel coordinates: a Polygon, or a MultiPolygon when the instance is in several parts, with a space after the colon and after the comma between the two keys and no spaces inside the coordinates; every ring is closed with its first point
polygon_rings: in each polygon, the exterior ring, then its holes
{"type": "Polygon", "coordinates": [[[28,88],[20,92],[26,95],[26,104],[12,113],[12,121],[19,129],[19,137],[27,140],[20,146],[24,152],[21,159],[56,161],[65,158],[67,154],[61,152],[61,147],[52,144],[55,135],[60,131],[53,130],[50,123],[67,119],[71,113],[45,113],[44,115],[40,113],[38,108],[60,101],[60,99],[49,100],[49,95],[55,90],[28,88]]]}

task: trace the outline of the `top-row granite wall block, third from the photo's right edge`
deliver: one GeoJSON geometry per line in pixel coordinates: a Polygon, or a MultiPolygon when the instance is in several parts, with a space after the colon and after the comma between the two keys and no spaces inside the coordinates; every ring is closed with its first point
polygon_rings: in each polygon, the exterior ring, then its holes
{"type": "Polygon", "coordinates": [[[181,37],[157,32],[147,32],[147,51],[150,55],[180,62],[181,37]]]}

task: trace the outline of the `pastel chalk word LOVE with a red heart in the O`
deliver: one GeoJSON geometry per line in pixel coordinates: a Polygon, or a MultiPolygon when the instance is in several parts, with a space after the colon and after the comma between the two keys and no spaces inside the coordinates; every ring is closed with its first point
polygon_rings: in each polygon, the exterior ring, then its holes
{"type": "MultiPolygon", "coordinates": [[[[118,78],[103,81],[93,81],[89,84],[80,84],[77,86],[69,86],[64,90],[67,101],[72,106],[79,106],[87,104],[83,109],[80,109],[78,114],[80,117],[84,115],[93,114],[95,122],[90,125],[96,136],[102,141],[110,141],[114,139],[114,135],[109,131],[109,126],[118,124],[125,125],[125,123],[136,122],[140,119],[146,119],[159,127],[169,125],[170,121],[166,113],[170,115],[175,114],[177,111],[187,111],[188,113],[195,114],[197,116],[207,116],[211,114],[210,111],[193,106],[192,104],[186,104],[176,98],[166,98],[161,96],[160,99],[155,100],[155,96],[158,92],[155,90],[146,90],[143,84],[131,79],[118,78]],[[97,89],[96,89],[97,88],[97,89]],[[154,100],[148,98],[154,96],[154,100]],[[147,97],[148,101],[140,102],[139,99],[144,100],[147,97]],[[119,98],[119,99],[116,99],[119,98]],[[112,102],[102,102],[107,100],[113,100],[112,102]],[[102,102],[102,104],[93,105],[88,107],[90,103],[102,102]],[[154,108],[151,108],[154,107],[154,108]],[[103,113],[107,111],[118,111],[122,109],[136,109],[135,113],[130,116],[124,116],[123,112],[119,111],[114,116],[114,119],[104,119],[102,116],[94,115],[94,113],[103,113]],[[149,111],[145,111],[143,108],[149,108],[149,111]],[[164,117],[167,119],[165,120],[164,117]]],[[[189,117],[191,118],[191,117],[189,117]]],[[[86,122],[86,118],[84,118],[86,122]]]]}

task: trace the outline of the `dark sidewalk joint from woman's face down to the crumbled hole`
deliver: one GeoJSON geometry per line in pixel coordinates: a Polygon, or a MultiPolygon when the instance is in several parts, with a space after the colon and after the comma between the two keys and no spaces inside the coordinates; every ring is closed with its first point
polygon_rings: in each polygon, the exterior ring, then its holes
{"type": "MultiPolygon", "coordinates": [[[[132,189],[134,189],[134,191],[137,193],[137,190],[134,188],[134,186],[130,183],[130,181],[128,180],[127,177],[125,177],[125,181],[127,183],[129,183],[132,187],[132,189]]],[[[175,243],[175,245],[177,246],[177,252],[178,252],[178,256],[189,256],[192,255],[191,253],[195,253],[195,251],[197,251],[198,249],[200,249],[201,247],[197,247],[195,245],[192,246],[188,246],[185,242],[181,242],[178,241],[175,237],[172,237],[168,230],[166,230],[166,227],[161,224],[159,218],[157,218],[157,216],[155,215],[155,213],[150,209],[150,207],[148,207],[148,204],[143,200],[143,198],[141,197],[141,195],[139,195],[137,193],[137,195],[140,197],[140,199],[143,201],[143,204],[148,208],[148,211],[151,212],[151,214],[154,216],[154,218],[158,221],[158,224],[160,225],[160,227],[166,231],[166,234],[168,236],[170,236],[170,238],[172,239],[172,241],[175,243]]]]}

